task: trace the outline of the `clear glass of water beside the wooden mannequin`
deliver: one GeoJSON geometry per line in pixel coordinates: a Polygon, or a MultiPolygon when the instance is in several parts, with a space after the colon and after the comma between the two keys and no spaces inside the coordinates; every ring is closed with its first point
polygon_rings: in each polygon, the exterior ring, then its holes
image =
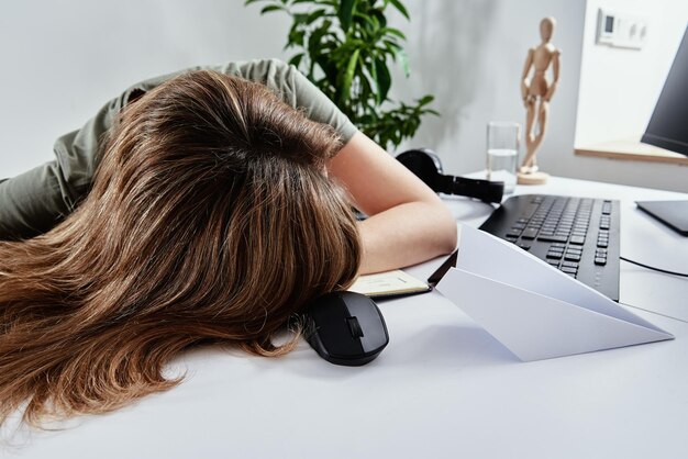
{"type": "Polygon", "coordinates": [[[487,124],[487,179],[503,181],[504,193],[512,193],[517,183],[517,164],[521,125],[509,121],[487,124]]]}

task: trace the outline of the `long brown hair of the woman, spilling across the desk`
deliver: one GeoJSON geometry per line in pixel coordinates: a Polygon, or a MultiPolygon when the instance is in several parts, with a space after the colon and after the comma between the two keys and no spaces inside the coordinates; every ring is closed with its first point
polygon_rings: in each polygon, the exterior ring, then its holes
{"type": "Polygon", "coordinates": [[[341,146],[267,88],[189,72],[127,105],[93,187],[48,233],[0,243],[0,423],[101,413],[162,391],[200,343],[263,356],[360,242],[324,173],[341,146]]]}

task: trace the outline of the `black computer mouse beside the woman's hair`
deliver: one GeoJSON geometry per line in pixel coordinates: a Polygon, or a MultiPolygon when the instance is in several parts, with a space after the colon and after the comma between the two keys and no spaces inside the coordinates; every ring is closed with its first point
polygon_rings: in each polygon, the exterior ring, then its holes
{"type": "Polygon", "coordinates": [[[310,303],[303,316],[308,343],[335,365],[368,363],[389,343],[382,313],[360,293],[326,293],[310,303]]]}

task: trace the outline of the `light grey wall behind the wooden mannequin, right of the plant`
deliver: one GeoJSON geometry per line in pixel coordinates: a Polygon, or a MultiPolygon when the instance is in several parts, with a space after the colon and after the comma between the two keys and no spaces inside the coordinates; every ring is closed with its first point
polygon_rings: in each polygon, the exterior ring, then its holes
{"type": "Polygon", "coordinates": [[[491,120],[525,123],[520,79],[528,49],[541,43],[540,21],[554,16],[553,44],[562,49],[561,83],[539,154],[544,170],[569,176],[584,0],[465,0],[409,2],[408,33],[413,75],[397,93],[436,96],[439,119],[428,119],[409,145],[434,147],[445,170],[485,167],[486,126],[491,120]]]}

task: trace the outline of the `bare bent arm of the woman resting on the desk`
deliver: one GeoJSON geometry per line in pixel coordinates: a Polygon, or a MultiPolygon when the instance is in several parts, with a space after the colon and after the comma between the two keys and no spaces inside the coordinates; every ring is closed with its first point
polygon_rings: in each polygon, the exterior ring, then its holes
{"type": "Polygon", "coordinates": [[[440,198],[381,147],[357,132],[329,172],[369,217],[360,223],[360,273],[414,265],[456,246],[456,221],[440,198]]]}

